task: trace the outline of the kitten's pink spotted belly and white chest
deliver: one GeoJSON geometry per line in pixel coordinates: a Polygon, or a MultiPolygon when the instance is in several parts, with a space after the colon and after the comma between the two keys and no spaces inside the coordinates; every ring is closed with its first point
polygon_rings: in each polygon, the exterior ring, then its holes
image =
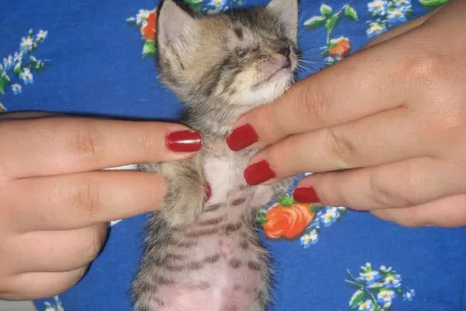
{"type": "Polygon", "coordinates": [[[228,159],[205,161],[212,196],[196,224],[172,234],[157,311],[259,311],[267,255],[250,219],[256,188],[228,159]]]}

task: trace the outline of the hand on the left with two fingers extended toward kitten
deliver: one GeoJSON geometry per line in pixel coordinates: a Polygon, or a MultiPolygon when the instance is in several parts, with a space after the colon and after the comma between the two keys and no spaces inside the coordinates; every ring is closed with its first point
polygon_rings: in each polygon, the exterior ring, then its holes
{"type": "Polygon", "coordinates": [[[156,174],[99,169],[190,156],[202,138],[185,130],[64,117],[0,121],[0,299],[48,297],[75,284],[101,249],[106,222],[156,210],[166,194],[156,174]]]}

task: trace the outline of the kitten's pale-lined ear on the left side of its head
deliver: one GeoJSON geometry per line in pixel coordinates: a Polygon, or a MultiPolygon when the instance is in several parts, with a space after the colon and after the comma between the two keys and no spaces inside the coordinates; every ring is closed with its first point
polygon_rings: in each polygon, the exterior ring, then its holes
{"type": "Polygon", "coordinates": [[[173,0],[164,0],[158,13],[157,39],[159,44],[189,37],[199,28],[198,21],[173,0]]]}

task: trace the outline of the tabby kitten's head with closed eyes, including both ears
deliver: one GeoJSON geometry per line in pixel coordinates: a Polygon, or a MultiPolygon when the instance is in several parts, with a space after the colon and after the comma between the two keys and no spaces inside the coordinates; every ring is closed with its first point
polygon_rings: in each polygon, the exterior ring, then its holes
{"type": "Polygon", "coordinates": [[[260,105],[293,82],[297,0],[193,16],[165,0],[158,18],[161,78],[186,104],[260,105]]]}

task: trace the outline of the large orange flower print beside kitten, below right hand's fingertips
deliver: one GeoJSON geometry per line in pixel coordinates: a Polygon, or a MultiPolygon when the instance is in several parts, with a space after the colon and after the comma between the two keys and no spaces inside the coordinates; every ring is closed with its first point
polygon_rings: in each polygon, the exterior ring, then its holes
{"type": "Polygon", "coordinates": [[[299,237],[314,218],[310,204],[284,197],[265,213],[261,222],[268,238],[292,240],[299,237]]]}

